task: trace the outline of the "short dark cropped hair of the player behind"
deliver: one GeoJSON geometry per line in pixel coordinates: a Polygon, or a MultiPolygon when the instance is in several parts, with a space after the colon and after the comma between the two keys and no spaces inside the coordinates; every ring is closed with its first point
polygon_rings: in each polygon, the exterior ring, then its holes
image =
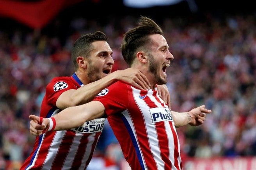
{"type": "Polygon", "coordinates": [[[88,57],[92,47],[91,44],[95,41],[107,41],[107,36],[103,32],[97,31],[95,33],[85,34],[76,40],[71,51],[71,59],[75,70],[78,68],[76,58],[78,56],[88,57]]]}

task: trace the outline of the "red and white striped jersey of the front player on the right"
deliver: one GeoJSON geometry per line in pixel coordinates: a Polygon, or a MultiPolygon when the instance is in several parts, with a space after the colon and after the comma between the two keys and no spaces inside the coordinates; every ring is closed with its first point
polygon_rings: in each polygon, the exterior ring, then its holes
{"type": "Polygon", "coordinates": [[[182,169],[171,111],[156,89],[143,91],[118,81],[94,100],[103,103],[132,170],[182,169]]]}

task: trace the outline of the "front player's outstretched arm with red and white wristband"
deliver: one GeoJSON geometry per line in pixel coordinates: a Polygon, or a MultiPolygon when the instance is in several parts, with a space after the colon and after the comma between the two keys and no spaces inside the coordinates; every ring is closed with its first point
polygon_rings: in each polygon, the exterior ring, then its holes
{"type": "MultiPolygon", "coordinates": [[[[58,114],[50,118],[43,118],[35,115],[30,115],[31,121],[38,122],[36,130],[68,130],[78,126],[82,126],[85,122],[92,119],[102,117],[105,107],[99,101],[92,101],[84,105],[68,107],[58,114]],[[75,113],[75,114],[74,114],[75,113]]],[[[40,133],[32,133],[40,135],[40,133]]]]}

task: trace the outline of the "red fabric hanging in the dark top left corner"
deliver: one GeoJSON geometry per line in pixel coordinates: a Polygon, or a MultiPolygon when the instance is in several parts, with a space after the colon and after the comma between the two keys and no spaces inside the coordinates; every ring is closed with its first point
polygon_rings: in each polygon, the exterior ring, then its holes
{"type": "Polygon", "coordinates": [[[41,0],[37,2],[22,2],[0,0],[0,16],[14,18],[31,28],[43,28],[63,8],[81,1],[41,0]]]}

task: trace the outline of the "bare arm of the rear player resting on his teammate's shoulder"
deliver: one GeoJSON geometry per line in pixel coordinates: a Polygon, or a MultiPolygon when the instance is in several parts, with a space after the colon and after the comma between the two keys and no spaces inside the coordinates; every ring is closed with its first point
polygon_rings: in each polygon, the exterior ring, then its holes
{"type": "Polygon", "coordinates": [[[101,90],[107,88],[116,81],[125,81],[139,89],[149,89],[149,81],[140,70],[135,68],[127,68],[125,70],[117,70],[110,73],[106,77],[98,81],[91,82],[78,89],[70,89],[62,93],[56,101],[59,109],[81,105],[90,102],[101,90]]]}

